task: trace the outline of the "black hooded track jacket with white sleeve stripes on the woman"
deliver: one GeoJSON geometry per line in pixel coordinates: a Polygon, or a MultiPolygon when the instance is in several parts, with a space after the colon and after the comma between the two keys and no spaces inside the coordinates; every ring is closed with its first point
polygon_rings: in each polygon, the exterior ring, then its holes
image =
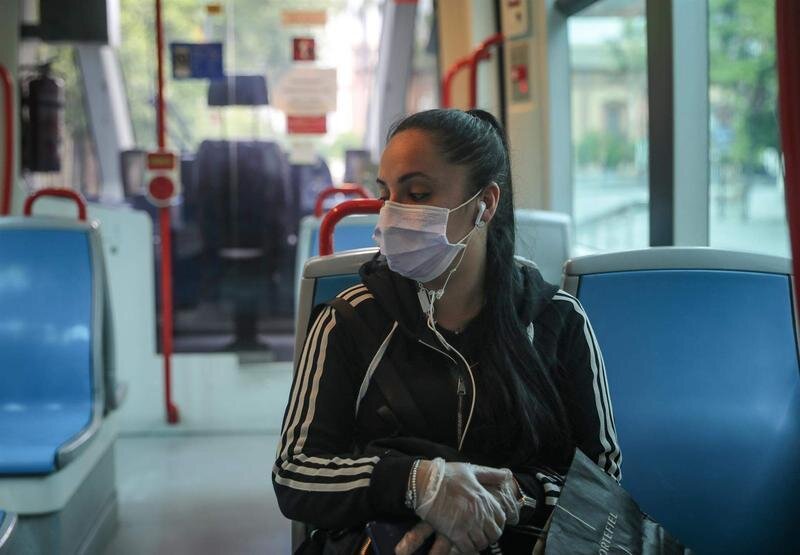
{"type": "MultiPolygon", "coordinates": [[[[520,271],[529,272],[526,282],[534,288],[526,296],[534,299],[533,306],[519,307],[520,315],[531,322],[528,334],[548,369],[567,376],[560,393],[576,447],[619,480],[621,455],[605,368],[586,314],[577,299],[544,282],[537,270],[520,271]]],[[[295,369],[272,473],[286,517],[332,530],[413,517],[404,499],[416,458],[443,456],[508,466],[502,449],[488,445],[490,428],[474,416],[463,449],[457,451],[464,410],[459,391],[465,393],[457,376],[463,363],[444,352],[427,329],[416,284],[391,272],[381,259],[365,264],[361,277],[361,284],[338,295],[349,304],[343,308],[355,310],[356,319],[331,306],[315,311],[295,369]],[[376,386],[375,376],[386,360],[394,366],[393,375],[403,379],[426,428],[395,414],[376,386]]],[[[474,338],[479,339],[480,327],[479,315],[464,331],[467,341],[461,344],[458,337],[446,335],[470,364],[470,355],[479,349],[474,338]]],[[[468,384],[466,399],[472,395],[468,384]]],[[[480,403],[478,391],[476,406],[480,403]]],[[[468,402],[466,406],[468,410],[468,402]]],[[[504,533],[503,538],[523,534],[528,536],[526,545],[532,545],[530,538],[549,516],[563,478],[546,465],[512,471],[525,493],[537,499],[537,510],[524,513],[514,534],[504,533]]]]}

